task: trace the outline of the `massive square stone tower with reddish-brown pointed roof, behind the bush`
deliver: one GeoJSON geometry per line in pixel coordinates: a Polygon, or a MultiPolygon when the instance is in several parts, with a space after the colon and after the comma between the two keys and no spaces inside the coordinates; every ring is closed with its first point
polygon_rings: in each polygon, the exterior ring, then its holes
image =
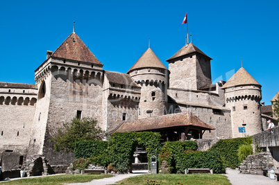
{"type": "Polygon", "coordinates": [[[103,128],[103,64],[76,33],[54,51],[35,70],[39,89],[29,141],[28,157],[44,155],[50,164],[69,164],[73,155],[54,152],[49,141],[62,123],[78,117],[96,117],[103,128]]]}

